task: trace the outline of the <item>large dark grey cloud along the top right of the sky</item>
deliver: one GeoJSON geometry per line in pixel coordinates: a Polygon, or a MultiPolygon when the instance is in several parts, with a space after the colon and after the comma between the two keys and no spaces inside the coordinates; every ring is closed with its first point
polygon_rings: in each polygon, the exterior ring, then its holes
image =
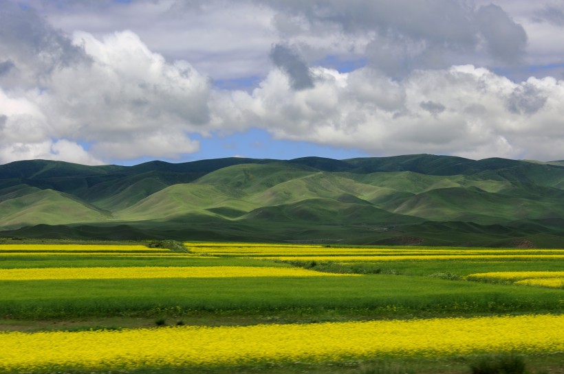
{"type": "MultiPolygon", "coordinates": [[[[413,69],[461,63],[515,65],[527,43],[524,28],[491,4],[475,8],[451,0],[255,1],[277,10],[276,27],[294,43],[305,43],[300,35],[305,32],[325,38],[367,36],[365,45],[350,46],[365,48],[371,67],[395,78],[413,69]]],[[[336,45],[343,41],[332,40],[336,45]]]]}

